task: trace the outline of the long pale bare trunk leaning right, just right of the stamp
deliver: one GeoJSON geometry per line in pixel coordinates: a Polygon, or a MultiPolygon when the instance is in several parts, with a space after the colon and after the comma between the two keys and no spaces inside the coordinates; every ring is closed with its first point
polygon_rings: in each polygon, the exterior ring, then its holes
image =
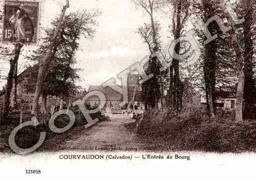
{"type": "Polygon", "coordinates": [[[49,61],[50,57],[51,57],[51,52],[52,52],[53,47],[56,43],[57,36],[59,34],[60,25],[63,21],[65,11],[68,7],[69,7],[69,0],[66,0],[66,4],[63,6],[63,9],[61,10],[61,14],[60,14],[60,17],[58,19],[58,22],[57,22],[57,25],[56,25],[56,30],[54,32],[52,41],[50,42],[50,44],[48,46],[48,49],[46,51],[46,54],[45,54],[43,60],[40,62],[40,67],[39,67],[38,76],[37,76],[37,83],[36,83],[36,87],[35,87],[35,95],[34,95],[34,99],[33,99],[33,108],[32,108],[32,114],[35,115],[35,116],[37,116],[36,109],[38,108],[38,100],[39,100],[40,93],[41,93],[43,77],[44,77],[44,75],[46,75],[46,74],[44,74],[45,71],[46,71],[45,68],[48,64],[48,61],[49,61]]]}

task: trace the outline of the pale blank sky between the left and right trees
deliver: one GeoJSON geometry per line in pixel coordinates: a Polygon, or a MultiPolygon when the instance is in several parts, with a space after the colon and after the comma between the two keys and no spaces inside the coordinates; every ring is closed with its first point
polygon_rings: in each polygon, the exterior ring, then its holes
{"type": "MultiPolygon", "coordinates": [[[[65,0],[44,0],[40,23],[48,26],[51,19],[59,16],[64,3],[65,0]]],[[[84,8],[98,8],[102,12],[96,19],[98,26],[95,27],[95,37],[91,40],[81,38],[80,49],[76,52],[78,63],[75,67],[82,69],[79,72],[82,80],[77,85],[88,89],[89,85],[100,85],[111,77],[116,77],[148,55],[148,46],[136,31],[144,22],[149,22],[149,15],[131,0],[70,0],[66,13],[84,8]]],[[[158,12],[155,19],[164,21],[163,24],[168,26],[167,15],[158,12]]],[[[167,39],[167,27],[163,27],[162,31],[163,38],[167,39]]],[[[31,49],[29,46],[23,48],[23,54],[31,49]]],[[[24,70],[26,63],[30,62],[21,55],[19,72],[24,70]]]]}

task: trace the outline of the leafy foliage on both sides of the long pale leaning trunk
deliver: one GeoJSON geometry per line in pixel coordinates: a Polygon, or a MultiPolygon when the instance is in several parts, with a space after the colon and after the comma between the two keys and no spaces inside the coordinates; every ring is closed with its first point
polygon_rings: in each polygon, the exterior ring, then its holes
{"type": "MultiPolygon", "coordinates": [[[[76,11],[64,16],[61,24],[61,32],[58,36],[58,44],[54,48],[52,60],[48,65],[47,76],[44,78],[42,93],[52,96],[71,96],[79,89],[75,85],[80,80],[77,72],[80,69],[73,68],[77,60],[75,52],[79,49],[78,40],[83,36],[85,39],[93,38],[94,26],[97,25],[95,18],[100,15],[99,11],[76,11]]],[[[56,28],[57,19],[51,22],[52,28],[45,29],[46,37],[39,49],[34,51],[28,59],[40,63],[46,53],[47,45],[56,28]]],[[[29,68],[31,83],[25,84],[28,91],[34,92],[36,76],[39,66],[29,68]]]]}

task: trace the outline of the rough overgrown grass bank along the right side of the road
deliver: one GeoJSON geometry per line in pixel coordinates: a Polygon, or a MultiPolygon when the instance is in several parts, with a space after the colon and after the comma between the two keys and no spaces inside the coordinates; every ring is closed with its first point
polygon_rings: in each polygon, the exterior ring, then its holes
{"type": "Polygon", "coordinates": [[[173,151],[256,152],[256,121],[236,123],[234,116],[224,114],[210,119],[201,109],[179,115],[167,110],[147,111],[136,134],[173,151]]]}

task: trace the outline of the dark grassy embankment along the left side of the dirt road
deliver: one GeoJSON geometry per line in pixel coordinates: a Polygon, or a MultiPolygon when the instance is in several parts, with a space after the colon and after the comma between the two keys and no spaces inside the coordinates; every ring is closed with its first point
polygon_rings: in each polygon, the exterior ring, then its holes
{"type": "MultiPolygon", "coordinates": [[[[15,142],[18,147],[22,149],[27,149],[34,146],[40,137],[40,132],[46,132],[46,139],[44,140],[44,144],[52,143],[55,144],[56,142],[61,143],[64,142],[67,137],[70,137],[74,128],[79,128],[80,130],[84,130],[83,126],[87,124],[86,119],[82,115],[82,113],[77,109],[71,109],[75,114],[75,123],[71,129],[64,133],[56,134],[53,133],[46,122],[46,124],[41,123],[36,127],[27,126],[22,128],[18,131],[15,136],[15,142]]],[[[101,115],[100,112],[91,114],[92,119],[98,118],[100,121],[107,120],[104,116],[101,115]]],[[[48,118],[49,119],[49,118],[48,118]]],[[[25,117],[24,121],[31,120],[31,115],[25,117]]],[[[19,125],[19,115],[10,115],[9,116],[9,123],[3,126],[0,126],[0,153],[12,153],[11,149],[8,146],[8,138],[11,131],[19,125]]],[[[43,121],[43,119],[39,119],[39,121],[43,121]]],[[[48,121],[48,120],[46,120],[48,121]]],[[[57,119],[54,121],[54,125],[57,128],[64,128],[69,123],[69,118],[66,115],[58,116],[57,119]]],[[[42,145],[41,148],[38,150],[43,150],[42,148],[47,148],[47,146],[42,145]]]]}

